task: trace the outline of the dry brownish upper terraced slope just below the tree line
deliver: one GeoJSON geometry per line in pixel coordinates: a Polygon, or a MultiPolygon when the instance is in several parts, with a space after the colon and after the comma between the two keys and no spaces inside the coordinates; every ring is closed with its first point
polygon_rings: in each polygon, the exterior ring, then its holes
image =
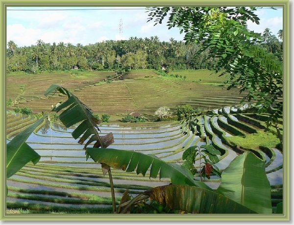
{"type": "Polygon", "coordinates": [[[19,106],[29,107],[34,113],[49,111],[56,102],[65,100],[61,96],[53,96],[51,99],[44,96],[52,83],[65,86],[90,106],[94,113],[110,115],[133,111],[153,115],[161,106],[166,105],[175,110],[182,104],[214,109],[239,104],[244,97],[239,95],[238,89],[227,91],[222,86],[191,80],[166,80],[152,71],[130,72],[123,74],[121,79],[108,76],[114,76],[113,72],[97,72],[87,78],[69,73],[8,75],[6,98],[14,101],[14,105],[8,109],[19,106]]]}

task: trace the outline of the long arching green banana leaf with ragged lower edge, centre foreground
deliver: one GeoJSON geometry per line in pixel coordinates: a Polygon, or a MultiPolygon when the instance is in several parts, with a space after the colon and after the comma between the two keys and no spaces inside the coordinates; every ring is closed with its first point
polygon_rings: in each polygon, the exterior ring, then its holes
{"type": "Polygon", "coordinates": [[[126,172],[136,170],[137,174],[142,173],[145,176],[150,168],[149,177],[156,178],[159,173],[159,178],[171,178],[172,184],[187,184],[213,190],[205,183],[194,180],[193,174],[186,167],[167,163],[152,154],[100,148],[87,148],[86,151],[95,162],[105,163],[116,169],[126,172]]]}

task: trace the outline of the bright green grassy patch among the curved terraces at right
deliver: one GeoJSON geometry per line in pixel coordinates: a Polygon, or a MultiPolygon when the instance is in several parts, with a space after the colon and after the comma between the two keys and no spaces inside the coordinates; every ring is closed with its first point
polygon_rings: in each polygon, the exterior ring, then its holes
{"type": "Polygon", "coordinates": [[[237,146],[258,149],[259,146],[274,148],[280,143],[276,135],[271,132],[258,130],[257,133],[246,134],[245,138],[240,136],[225,137],[228,141],[235,143],[237,146]]]}

